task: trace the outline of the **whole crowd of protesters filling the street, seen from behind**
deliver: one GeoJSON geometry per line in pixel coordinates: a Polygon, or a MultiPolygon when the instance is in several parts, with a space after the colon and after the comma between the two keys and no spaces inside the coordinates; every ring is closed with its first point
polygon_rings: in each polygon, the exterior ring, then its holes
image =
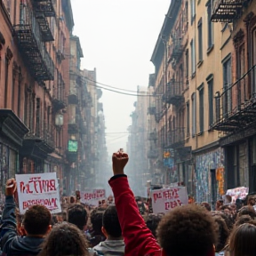
{"type": "Polygon", "coordinates": [[[114,176],[108,182],[115,204],[92,209],[73,197],[59,214],[34,205],[21,215],[15,202],[16,181],[8,180],[0,230],[2,255],[256,255],[255,193],[236,204],[226,196],[215,209],[206,202],[190,202],[166,214],[148,213],[138,207],[140,200],[124,174],[128,159],[124,152],[112,157],[114,176]]]}

